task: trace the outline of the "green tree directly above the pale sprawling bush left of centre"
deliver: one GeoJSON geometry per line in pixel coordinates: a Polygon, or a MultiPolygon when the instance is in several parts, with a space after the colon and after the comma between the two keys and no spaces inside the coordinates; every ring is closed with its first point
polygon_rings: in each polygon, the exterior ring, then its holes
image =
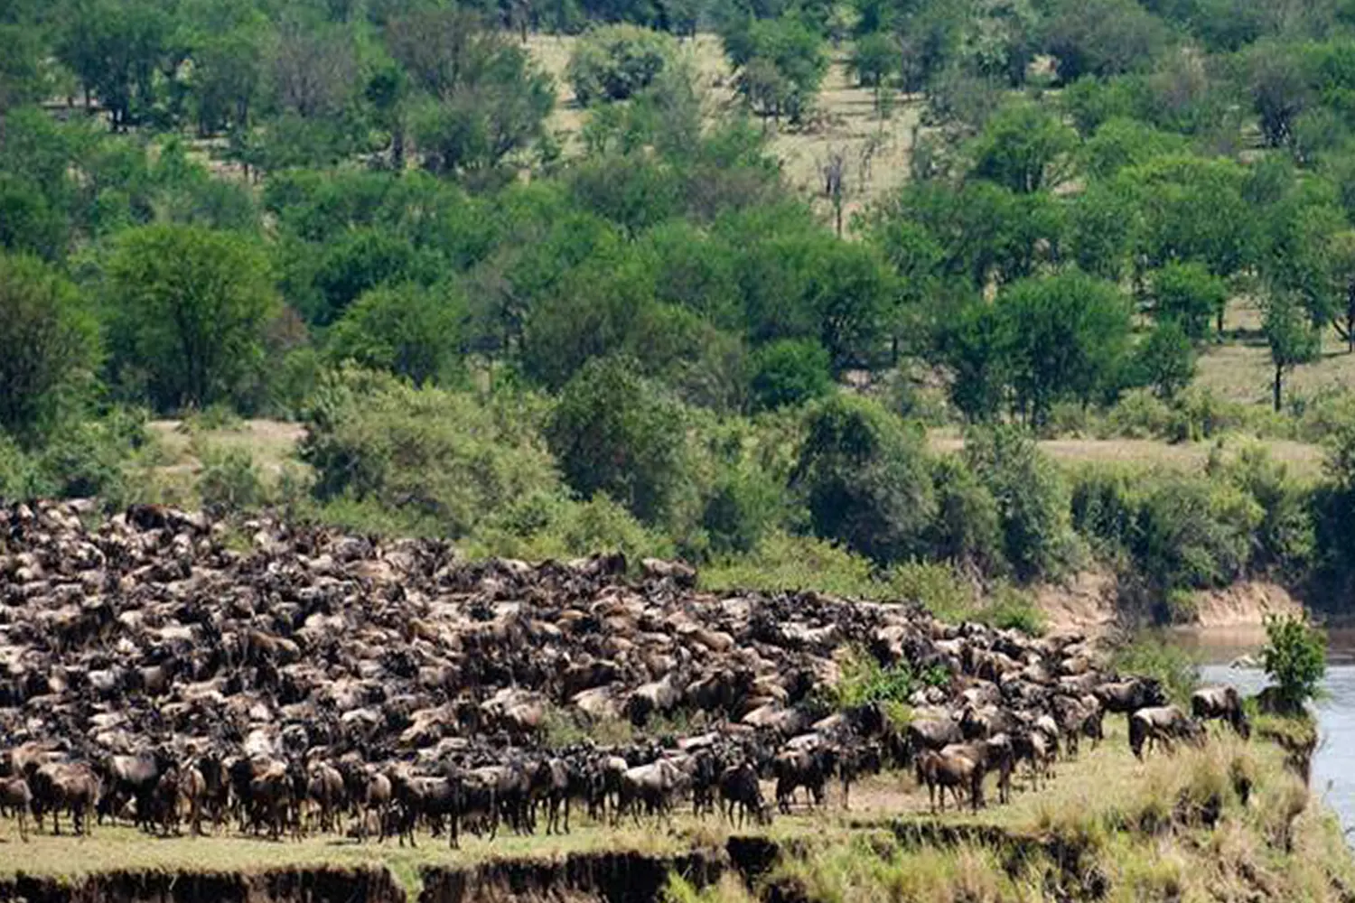
{"type": "Polygon", "coordinates": [[[466,329],[466,299],[458,288],[405,283],[374,288],[327,336],[329,355],[412,380],[455,382],[466,329]]]}

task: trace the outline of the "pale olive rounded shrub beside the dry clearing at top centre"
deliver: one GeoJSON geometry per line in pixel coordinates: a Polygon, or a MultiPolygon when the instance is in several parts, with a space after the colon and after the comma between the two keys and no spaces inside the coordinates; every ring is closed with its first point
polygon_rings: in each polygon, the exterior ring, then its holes
{"type": "Polygon", "coordinates": [[[604,26],[579,39],[565,77],[581,106],[625,100],[649,87],[675,56],[671,35],[640,26],[604,26]]]}

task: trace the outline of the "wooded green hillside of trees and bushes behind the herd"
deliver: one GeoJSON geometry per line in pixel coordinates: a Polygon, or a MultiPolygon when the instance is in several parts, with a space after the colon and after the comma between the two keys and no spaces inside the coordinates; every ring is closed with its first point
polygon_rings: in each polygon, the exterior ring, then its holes
{"type": "Polygon", "coordinates": [[[1350,608],[1347,7],[11,3],[0,495],[1028,630],[1092,566],[1350,608]]]}

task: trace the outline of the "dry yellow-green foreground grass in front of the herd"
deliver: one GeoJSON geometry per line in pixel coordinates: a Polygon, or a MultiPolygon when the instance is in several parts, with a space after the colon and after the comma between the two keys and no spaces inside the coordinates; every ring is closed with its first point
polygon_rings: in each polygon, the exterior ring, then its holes
{"type": "MultiPolygon", "coordinates": [[[[770,880],[794,884],[814,903],[855,900],[1038,900],[1049,880],[1077,896],[1077,881],[1102,883],[1106,899],[1335,900],[1355,888],[1355,862],[1339,824],[1312,806],[1306,787],[1285,769],[1285,753],[1249,745],[1221,728],[1203,750],[1152,754],[1137,761],[1122,716],[1107,719],[1096,751],[1057,766],[1039,792],[1018,781],[1009,806],[972,815],[932,816],[911,774],[862,783],[852,810],[833,788],[827,810],[778,818],[764,834],[793,849],[770,880]],[[973,829],[951,843],[902,843],[898,827],[973,829]],[[977,833],[984,831],[984,833],[977,833]],[[1060,861],[1051,850],[1062,850],[1060,861]],[[1061,877],[1060,877],[1061,873],[1061,877]],[[1076,873],[1076,877],[1073,876],[1076,873]],[[1053,877],[1051,877],[1053,876],[1053,877]],[[1214,895],[1211,889],[1226,889],[1214,895]]],[[[770,789],[770,788],[768,788],[770,789]]],[[[989,788],[988,796],[996,796],[989,788]]],[[[23,871],[79,879],[104,871],[263,872],[297,866],[386,866],[417,891],[424,868],[489,861],[556,860],[627,850],[671,856],[724,843],[730,826],[679,816],[671,826],[625,823],[576,827],[568,837],[501,835],[493,843],[465,838],[462,849],[420,837],[417,849],[356,845],[337,838],[299,843],[240,837],[152,839],[126,827],[98,829],[92,839],[34,837],[19,845],[12,822],[0,822],[0,875],[23,871]]],[[[675,881],[672,903],[747,903],[747,889],[722,883],[698,891],[675,881]]]]}

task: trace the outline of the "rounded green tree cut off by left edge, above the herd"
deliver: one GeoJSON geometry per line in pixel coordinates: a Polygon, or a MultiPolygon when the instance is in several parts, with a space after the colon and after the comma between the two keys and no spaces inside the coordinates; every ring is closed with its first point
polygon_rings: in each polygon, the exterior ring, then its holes
{"type": "Polygon", "coordinates": [[[0,431],[38,439],[65,391],[89,382],[98,326],[75,286],[33,257],[0,255],[0,431]]]}

